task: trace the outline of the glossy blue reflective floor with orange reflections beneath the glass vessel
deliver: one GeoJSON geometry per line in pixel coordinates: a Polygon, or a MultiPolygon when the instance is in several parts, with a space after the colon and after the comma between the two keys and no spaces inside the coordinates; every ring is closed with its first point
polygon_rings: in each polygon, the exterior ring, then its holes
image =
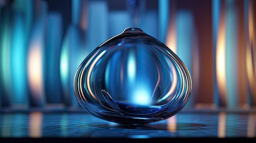
{"type": "Polygon", "coordinates": [[[120,125],[85,112],[2,112],[1,138],[256,138],[256,112],[180,112],[146,125],[120,125]]]}

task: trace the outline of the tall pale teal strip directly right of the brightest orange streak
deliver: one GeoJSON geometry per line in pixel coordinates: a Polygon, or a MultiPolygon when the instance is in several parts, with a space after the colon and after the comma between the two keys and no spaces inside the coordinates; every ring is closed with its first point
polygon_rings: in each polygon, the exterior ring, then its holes
{"type": "Polygon", "coordinates": [[[227,108],[238,108],[238,11],[236,1],[226,0],[227,108]]]}

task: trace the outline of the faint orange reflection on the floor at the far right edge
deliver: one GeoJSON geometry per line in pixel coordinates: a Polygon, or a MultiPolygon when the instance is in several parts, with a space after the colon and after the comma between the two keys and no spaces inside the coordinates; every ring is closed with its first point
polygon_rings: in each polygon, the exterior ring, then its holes
{"type": "Polygon", "coordinates": [[[256,134],[256,113],[248,116],[247,137],[254,138],[256,134]]]}

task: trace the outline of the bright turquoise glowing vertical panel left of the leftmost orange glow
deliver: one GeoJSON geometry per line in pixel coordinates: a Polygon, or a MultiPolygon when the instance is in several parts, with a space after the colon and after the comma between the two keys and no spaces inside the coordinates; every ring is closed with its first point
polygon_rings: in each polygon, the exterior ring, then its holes
{"type": "Polygon", "coordinates": [[[22,12],[14,11],[11,33],[11,106],[28,108],[29,96],[27,86],[27,37],[25,18],[22,12]]]}

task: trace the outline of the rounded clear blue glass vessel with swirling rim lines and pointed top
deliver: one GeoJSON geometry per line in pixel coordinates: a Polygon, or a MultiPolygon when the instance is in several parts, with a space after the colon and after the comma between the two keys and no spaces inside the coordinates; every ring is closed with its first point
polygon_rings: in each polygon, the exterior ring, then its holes
{"type": "Polygon", "coordinates": [[[90,114],[121,124],[162,121],[189,100],[184,63],[141,29],[127,28],[88,55],[74,77],[74,92],[90,114]]]}

